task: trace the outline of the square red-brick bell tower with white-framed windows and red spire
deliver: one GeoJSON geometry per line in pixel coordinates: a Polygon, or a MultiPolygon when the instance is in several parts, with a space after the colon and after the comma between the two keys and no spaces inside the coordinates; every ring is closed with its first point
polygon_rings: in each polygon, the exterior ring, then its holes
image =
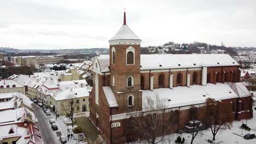
{"type": "Polygon", "coordinates": [[[119,106],[141,109],[140,48],[141,39],[127,26],[124,12],[123,26],[109,40],[110,86],[119,106]]]}

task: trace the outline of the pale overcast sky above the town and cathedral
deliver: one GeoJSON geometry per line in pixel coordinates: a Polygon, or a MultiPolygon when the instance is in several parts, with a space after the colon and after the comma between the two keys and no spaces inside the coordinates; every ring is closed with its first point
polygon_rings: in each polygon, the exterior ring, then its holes
{"type": "Polygon", "coordinates": [[[201,41],[256,47],[255,0],[0,0],[0,47],[108,47],[126,22],[142,46],[201,41]]]}

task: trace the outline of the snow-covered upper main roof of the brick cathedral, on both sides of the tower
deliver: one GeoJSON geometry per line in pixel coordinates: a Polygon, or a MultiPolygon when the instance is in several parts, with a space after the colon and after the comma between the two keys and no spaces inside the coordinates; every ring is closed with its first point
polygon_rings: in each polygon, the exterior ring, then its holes
{"type": "MultiPolygon", "coordinates": [[[[109,67],[109,55],[97,56],[101,70],[109,67]]],[[[135,62],[136,63],[136,62],[135,62]]],[[[223,67],[239,65],[228,54],[154,54],[141,55],[141,70],[170,69],[170,68],[198,68],[223,67]]]]}

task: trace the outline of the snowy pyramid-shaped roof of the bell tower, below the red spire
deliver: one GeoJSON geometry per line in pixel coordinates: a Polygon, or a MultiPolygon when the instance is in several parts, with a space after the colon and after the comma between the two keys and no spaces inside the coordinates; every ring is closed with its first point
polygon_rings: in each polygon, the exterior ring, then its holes
{"type": "Polygon", "coordinates": [[[141,39],[139,39],[137,37],[137,35],[135,33],[133,33],[127,25],[123,25],[119,29],[119,31],[114,35],[114,37],[112,39],[110,39],[109,41],[113,41],[113,40],[139,40],[139,41],[141,41],[141,39]]]}

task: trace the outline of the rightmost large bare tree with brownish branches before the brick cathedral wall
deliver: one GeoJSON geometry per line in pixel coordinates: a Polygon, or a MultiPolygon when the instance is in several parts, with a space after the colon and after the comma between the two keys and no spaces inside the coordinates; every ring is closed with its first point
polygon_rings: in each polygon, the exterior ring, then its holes
{"type": "Polygon", "coordinates": [[[220,129],[230,129],[232,127],[232,109],[222,101],[206,99],[206,124],[211,128],[214,141],[220,129]]]}

